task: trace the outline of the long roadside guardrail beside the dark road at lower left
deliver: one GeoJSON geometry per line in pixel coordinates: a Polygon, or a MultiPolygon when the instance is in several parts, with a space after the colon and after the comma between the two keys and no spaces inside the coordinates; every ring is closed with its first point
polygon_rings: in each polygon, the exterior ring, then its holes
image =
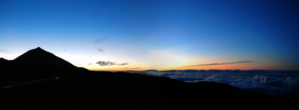
{"type": "Polygon", "coordinates": [[[34,85],[37,83],[40,83],[41,81],[45,81],[45,80],[53,80],[53,79],[57,79],[57,78],[48,78],[48,79],[43,79],[43,80],[30,80],[30,81],[23,81],[25,83],[19,83],[19,84],[13,84],[13,85],[9,85],[9,86],[1,86],[0,87],[0,94],[4,93],[4,92],[9,92],[9,91],[13,91],[16,89],[20,89],[23,87],[28,87],[30,85],[34,85]]]}

